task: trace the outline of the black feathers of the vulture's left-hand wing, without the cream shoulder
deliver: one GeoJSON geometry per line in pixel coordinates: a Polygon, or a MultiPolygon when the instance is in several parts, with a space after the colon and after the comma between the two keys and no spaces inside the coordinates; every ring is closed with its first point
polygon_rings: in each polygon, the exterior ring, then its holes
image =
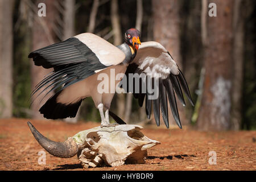
{"type": "Polygon", "coordinates": [[[54,68],[54,71],[49,73],[33,90],[32,95],[44,88],[38,96],[49,88],[51,88],[49,91],[51,92],[64,85],[59,89],[61,91],[67,86],[93,75],[98,69],[107,68],[106,65],[100,63],[95,53],[77,38],[70,38],[40,48],[31,52],[28,57],[33,59],[35,65],[54,68]]]}

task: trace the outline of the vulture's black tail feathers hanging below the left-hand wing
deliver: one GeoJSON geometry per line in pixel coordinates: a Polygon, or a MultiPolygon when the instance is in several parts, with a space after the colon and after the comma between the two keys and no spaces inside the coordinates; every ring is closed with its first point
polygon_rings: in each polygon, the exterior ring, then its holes
{"type": "Polygon", "coordinates": [[[61,92],[56,93],[54,96],[39,109],[40,113],[47,119],[64,119],[64,118],[75,118],[77,111],[81,105],[82,100],[73,104],[62,104],[57,102],[56,99],[61,92]]]}

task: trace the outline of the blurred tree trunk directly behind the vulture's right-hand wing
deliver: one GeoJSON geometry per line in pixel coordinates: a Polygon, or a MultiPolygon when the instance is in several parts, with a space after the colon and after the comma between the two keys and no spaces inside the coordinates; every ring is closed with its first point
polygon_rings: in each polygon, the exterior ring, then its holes
{"type": "MultiPolygon", "coordinates": [[[[176,63],[182,70],[182,60],[180,55],[180,15],[178,0],[152,0],[153,19],[154,19],[154,39],[161,43],[172,55],[176,63]]],[[[182,104],[177,101],[180,120],[183,125],[188,124],[185,117],[185,110],[182,104]]],[[[171,113],[168,106],[168,113],[171,113]]],[[[169,121],[173,125],[175,120],[169,114],[169,121]]]]}

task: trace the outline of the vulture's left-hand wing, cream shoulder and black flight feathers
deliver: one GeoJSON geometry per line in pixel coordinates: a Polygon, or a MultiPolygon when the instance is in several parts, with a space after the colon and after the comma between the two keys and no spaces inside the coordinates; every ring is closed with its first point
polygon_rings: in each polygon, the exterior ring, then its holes
{"type": "Polygon", "coordinates": [[[54,68],[36,86],[32,92],[35,94],[42,88],[42,92],[49,88],[51,92],[64,84],[63,90],[102,69],[122,63],[125,54],[99,36],[85,33],[33,51],[28,57],[37,66],[54,68]]]}

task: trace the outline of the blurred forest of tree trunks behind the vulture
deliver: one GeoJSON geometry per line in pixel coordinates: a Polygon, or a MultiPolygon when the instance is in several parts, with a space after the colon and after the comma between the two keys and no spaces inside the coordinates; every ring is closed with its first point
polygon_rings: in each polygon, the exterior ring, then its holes
{"type": "MultiPolygon", "coordinates": [[[[178,106],[183,125],[255,130],[255,12],[254,0],[0,0],[0,118],[42,118],[30,94],[50,70],[35,67],[28,53],[83,32],[118,45],[136,27],[142,42],[163,44],[187,78],[196,106],[178,106]],[[38,16],[41,2],[46,17],[38,16]],[[216,17],[208,15],[212,2],[216,17]]],[[[126,122],[148,122],[137,102],[115,94],[111,110],[126,122]]],[[[170,110],[169,117],[174,123],[170,110]]],[[[100,122],[100,114],[86,98],[77,118],[65,120],[100,122]]]]}

